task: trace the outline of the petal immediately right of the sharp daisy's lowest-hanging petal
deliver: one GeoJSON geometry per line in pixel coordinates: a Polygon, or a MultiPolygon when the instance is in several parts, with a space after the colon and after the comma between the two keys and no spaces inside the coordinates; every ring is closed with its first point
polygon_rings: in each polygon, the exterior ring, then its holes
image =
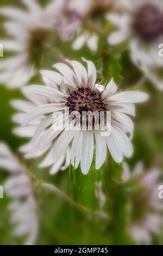
{"type": "Polygon", "coordinates": [[[95,132],[96,139],[96,169],[99,169],[106,159],[106,141],[99,131],[95,132]]]}

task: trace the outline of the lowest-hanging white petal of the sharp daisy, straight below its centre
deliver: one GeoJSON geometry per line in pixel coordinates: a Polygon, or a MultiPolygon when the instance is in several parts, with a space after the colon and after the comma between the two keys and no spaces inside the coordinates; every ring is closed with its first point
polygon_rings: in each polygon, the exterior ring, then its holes
{"type": "Polygon", "coordinates": [[[83,174],[87,174],[93,160],[93,132],[85,131],[83,135],[83,148],[80,167],[83,174]]]}

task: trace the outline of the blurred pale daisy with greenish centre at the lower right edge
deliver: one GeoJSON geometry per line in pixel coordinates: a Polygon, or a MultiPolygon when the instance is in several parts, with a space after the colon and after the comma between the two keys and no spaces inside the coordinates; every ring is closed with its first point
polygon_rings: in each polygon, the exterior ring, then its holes
{"type": "Polygon", "coordinates": [[[136,164],[133,172],[126,162],[123,163],[123,181],[127,182],[133,178],[135,185],[141,188],[133,192],[128,198],[128,230],[136,243],[151,244],[151,234],[158,234],[162,227],[161,210],[163,205],[158,197],[160,176],[161,171],[158,168],[143,172],[141,162],[136,164]]]}

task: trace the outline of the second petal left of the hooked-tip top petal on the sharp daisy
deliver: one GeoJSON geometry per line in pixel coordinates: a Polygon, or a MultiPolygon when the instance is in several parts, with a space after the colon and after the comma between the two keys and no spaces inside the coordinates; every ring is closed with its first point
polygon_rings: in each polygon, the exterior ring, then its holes
{"type": "Polygon", "coordinates": [[[57,63],[53,65],[53,68],[57,69],[71,84],[77,86],[79,81],[74,72],[64,63],[57,63]]]}

